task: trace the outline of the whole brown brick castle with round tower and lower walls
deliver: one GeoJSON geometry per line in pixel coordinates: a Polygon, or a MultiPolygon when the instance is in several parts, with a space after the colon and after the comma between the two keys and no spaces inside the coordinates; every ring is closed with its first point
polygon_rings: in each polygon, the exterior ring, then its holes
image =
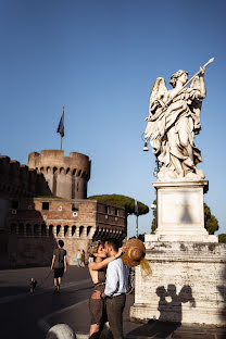
{"type": "Polygon", "coordinates": [[[59,239],[67,262],[93,239],[123,240],[124,208],[87,199],[91,161],[85,154],[42,150],[28,166],[0,156],[0,248],[10,265],[48,265],[59,239]]]}

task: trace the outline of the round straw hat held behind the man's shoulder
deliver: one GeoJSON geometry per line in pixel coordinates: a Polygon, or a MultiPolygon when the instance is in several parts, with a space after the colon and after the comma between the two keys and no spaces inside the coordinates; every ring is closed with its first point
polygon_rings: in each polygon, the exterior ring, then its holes
{"type": "Polygon", "coordinates": [[[129,239],[123,244],[122,261],[128,267],[135,267],[146,256],[146,247],[139,239],[129,239]]]}

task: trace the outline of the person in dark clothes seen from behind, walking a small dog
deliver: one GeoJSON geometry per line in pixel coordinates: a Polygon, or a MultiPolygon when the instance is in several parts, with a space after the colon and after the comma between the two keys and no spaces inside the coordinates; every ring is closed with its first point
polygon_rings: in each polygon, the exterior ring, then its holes
{"type": "Polygon", "coordinates": [[[66,273],[66,251],[63,240],[59,240],[58,249],[53,251],[51,269],[54,268],[54,291],[60,292],[61,278],[66,273]]]}

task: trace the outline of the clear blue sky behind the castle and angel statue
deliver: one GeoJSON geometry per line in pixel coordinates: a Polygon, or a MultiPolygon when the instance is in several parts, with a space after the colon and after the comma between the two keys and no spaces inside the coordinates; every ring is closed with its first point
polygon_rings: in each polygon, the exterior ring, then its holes
{"type": "MultiPolygon", "coordinates": [[[[142,152],[156,77],[205,72],[208,96],[196,145],[210,181],[205,202],[225,231],[224,0],[0,0],[0,153],[27,164],[29,152],[59,149],[92,161],[88,194],[122,193],[151,205],[154,155],[142,152]]],[[[168,85],[168,89],[171,86],[168,85]]],[[[139,217],[150,233],[152,211],[139,217]]],[[[135,235],[129,217],[128,235],[135,235]]]]}

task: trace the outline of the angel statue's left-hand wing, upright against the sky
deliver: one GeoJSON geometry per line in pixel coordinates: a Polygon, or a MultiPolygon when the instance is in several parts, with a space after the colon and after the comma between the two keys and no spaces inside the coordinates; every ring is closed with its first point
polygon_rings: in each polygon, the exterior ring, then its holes
{"type": "Polygon", "coordinates": [[[149,116],[152,114],[154,105],[159,102],[163,105],[163,99],[167,93],[167,88],[165,86],[165,79],[163,77],[156,78],[150,95],[150,105],[149,105],[149,116]]]}

